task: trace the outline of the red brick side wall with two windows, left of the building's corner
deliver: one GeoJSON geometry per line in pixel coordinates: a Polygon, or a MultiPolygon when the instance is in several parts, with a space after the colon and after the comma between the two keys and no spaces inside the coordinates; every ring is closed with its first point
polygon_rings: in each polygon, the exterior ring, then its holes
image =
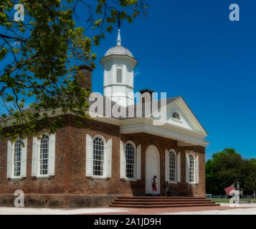
{"type": "Polygon", "coordinates": [[[67,144],[68,142],[67,129],[61,128],[56,133],[56,156],[55,156],[55,176],[51,179],[41,178],[35,179],[32,177],[32,144],[33,138],[28,137],[27,140],[27,177],[24,180],[8,180],[6,177],[7,171],[7,140],[0,140],[0,193],[14,193],[15,190],[23,190],[24,193],[64,193],[65,192],[65,177],[67,170],[65,164],[67,155],[70,153],[67,144]]]}

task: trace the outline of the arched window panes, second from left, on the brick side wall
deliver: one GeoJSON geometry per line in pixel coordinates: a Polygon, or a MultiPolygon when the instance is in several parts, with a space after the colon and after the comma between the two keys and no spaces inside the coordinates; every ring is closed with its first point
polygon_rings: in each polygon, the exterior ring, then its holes
{"type": "Polygon", "coordinates": [[[48,174],[48,162],[49,162],[49,136],[42,137],[40,142],[40,157],[39,157],[39,174],[48,174]]]}

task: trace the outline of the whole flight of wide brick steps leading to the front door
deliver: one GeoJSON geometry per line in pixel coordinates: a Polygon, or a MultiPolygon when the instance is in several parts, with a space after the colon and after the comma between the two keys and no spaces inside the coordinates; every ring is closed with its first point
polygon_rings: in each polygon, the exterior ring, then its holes
{"type": "Polygon", "coordinates": [[[194,197],[149,197],[120,196],[110,205],[119,208],[177,208],[196,206],[218,206],[207,198],[194,197]]]}

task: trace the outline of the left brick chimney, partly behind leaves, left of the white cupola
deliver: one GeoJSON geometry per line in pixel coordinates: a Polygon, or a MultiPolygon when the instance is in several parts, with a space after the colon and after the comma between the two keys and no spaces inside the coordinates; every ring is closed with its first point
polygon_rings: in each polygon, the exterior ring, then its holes
{"type": "Polygon", "coordinates": [[[93,69],[85,64],[79,66],[79,76],[77,82],[83,89],[92,90],[92,72],[93,69]]]}

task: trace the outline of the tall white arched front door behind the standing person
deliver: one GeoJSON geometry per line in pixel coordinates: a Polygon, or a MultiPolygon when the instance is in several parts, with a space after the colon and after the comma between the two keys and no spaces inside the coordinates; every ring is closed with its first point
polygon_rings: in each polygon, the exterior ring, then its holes
{"type": "Polygon", "coordinates": [[[157,193],[160,193],[160,158],[159,152],[154,145],[150,145],[146,150],[146,194],[152,194],[153,176],[156,176],[157,193]]]}

